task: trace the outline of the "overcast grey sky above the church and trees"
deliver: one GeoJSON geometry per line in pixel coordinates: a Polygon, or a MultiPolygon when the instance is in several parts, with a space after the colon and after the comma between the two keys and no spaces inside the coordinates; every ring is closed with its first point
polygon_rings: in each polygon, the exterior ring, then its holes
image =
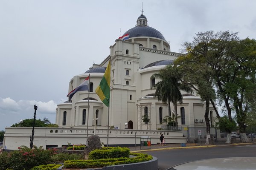
{"type": "MultiPolygon", "coordinates": [[[[201,31],[256,38],[255,0],[144,0],[148,25],[180,52],[201,31]]],[[[139,0],[0,0],[0,130],[37,118],[55,123],[73,76],[99,64],[135,26],[139,0]]]]}

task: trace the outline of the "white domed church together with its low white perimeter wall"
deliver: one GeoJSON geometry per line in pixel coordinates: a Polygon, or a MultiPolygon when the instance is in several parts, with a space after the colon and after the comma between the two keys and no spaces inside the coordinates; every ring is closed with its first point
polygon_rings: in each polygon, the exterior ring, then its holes
{"type": "MultiPolygon", "coordinates": [[[[34,144],[37,146],[61,147],[85,143],[87,136],[96,134],[107,144],[108,109],[109,144],[139,144],[141,137],[148,136],[151,144],[159,142],[163,134],[166,143],[186,143],[183,131],[161,129],[168,115],[166,103],[154,97],[152,85],[159,80],[152,75],[172,62],[181,54],[170,51],[170,45],[160,31],[148,26],[148,20],[141,14],[137,25],[124,35],[127,40],[117,39],[110,46],[110,55],[100,64],[93,64],[85,73],[74,76],[69,82],[68,94],[90,75],[89,91],[78,91],[71,100],[56,108],[58,128],[36,127],[34,144]],[[106,66],[111,58],[110,106],[105,106],[95,93],[106,66]],[[88,100],[89,99],[89,100],[88,100]],[[142,116],[147,114],[150,121],[145,124],[142,116]],[[88,122],[88,124],[87,124],[88,122]],[[96,130],[94,130],[94,125],[96,130]],[[88,126],[88,128],[87,128],[88,126]]],[[[183,93],[183,103],[177,104],[179,127],[205,128],[205,103],[199,96],[183,93]]],[[[171,110],[174,107],[171,103],[171,110]]],[[[215,111],[210,105],[210,124],[213,125],[215,111]]],[[[6,127],[4,146],[17,149],[20,145],[29,146],[31,127],[6,127]]],[[[143,139],[144,140],[144,139],[143,139]]],[[[147,139],[148,140],[148,139],[147,139]]]]}

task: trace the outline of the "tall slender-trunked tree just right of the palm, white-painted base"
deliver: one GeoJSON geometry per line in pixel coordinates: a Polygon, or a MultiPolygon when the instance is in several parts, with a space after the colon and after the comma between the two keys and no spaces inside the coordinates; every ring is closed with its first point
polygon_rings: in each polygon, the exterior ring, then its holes
{"type": "MultiPolygon", "coordinates": [[[[215,108],[215,90],[212,75],[212,69],[210,67],[210,58],[212,57],[211,45],[212,40],[216,36],[212,34],[212,31],[198,33],[193,38],[192,42],[185,42],[183,46],[189,51],[188,54],[184,54],[175,60],[175,64],[180,65],[180,69],[183,72],[183,82],[189,84],[205,102],[204,119],[206,123],[207,134],[210,134],[210,122],[209,122],[209,106],[212,102],[212,106],[215,108]]],[[[217,117],[217,108],[215,108],[217,117]]],[[[207,138],[207,144],[209,140],[207,138]]]]}

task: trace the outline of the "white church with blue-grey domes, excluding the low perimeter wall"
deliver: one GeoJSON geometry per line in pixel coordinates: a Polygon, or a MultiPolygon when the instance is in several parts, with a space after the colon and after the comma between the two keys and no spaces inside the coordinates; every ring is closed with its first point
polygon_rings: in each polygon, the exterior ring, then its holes
{"type": "MultiPolygon", "coordinates": [[[[111,57],[111,89],[110,89],[110,120],[109,125],[125,129],[157,130],[163,125],[163,118],[168,115],[166,103],[154,97],[152,85],[157,79],[152,77],[166,65],[172,64],[180,54],[171,52],[170,45],[156,29],[148,26],[148,20],[141,14],[137,26],[125,32],[128,40],[117,39],[110,46],[110,55],[99,65],[94,64],[84,74],[74,76],[69,83],[72,91],[90,74],[90,100],[88,91],[77,92],[72,100],[58,105],[56,124],[59,127],[85,127],[87,116],[88,126],[108,125],[108,107],[95,93],[111,57]],[[89,114],[89,115],[87,115],[89,114]],[[150,121],[145,124],[142,116],[147,114],[150,121]],[[127,126],[125,126],[127,125],[127,126]]],[[[124,34],[124,35],[125,35],[124,34]]],[[[66,92],[66,93],[68,93],[66,92]]],[[[171,110],[174,110],[173,105],[171,110]]],[[[205,105],[196,94],[184,94],[183,104],[178,104],[179,126],[205,126],[205,105]]],[[[215,117],[214,109],[210,108],[211,118],[215,117]]]]}

